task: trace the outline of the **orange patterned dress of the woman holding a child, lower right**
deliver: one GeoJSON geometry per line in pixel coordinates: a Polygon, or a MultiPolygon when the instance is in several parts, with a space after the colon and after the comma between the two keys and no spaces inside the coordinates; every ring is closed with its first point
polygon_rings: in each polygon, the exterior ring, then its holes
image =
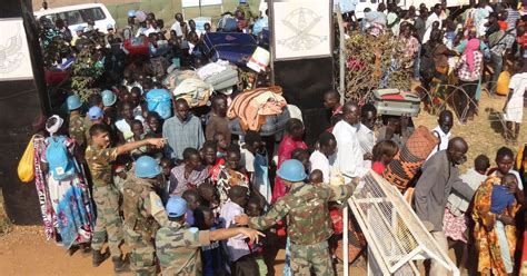
{"type": "MultiPolygon", "coordinates": [[[[479,186],[474,197],[473,219],[475,221],[474,237],[478,249],[478,272],[481,274],[490,274],[501,276],[507,275],[507,269],[503,259],[498,240],[497,214],[490,213],[493,186],[501,180],[497,176],[490,176],[479,186]],[[488,229],[488,227],[491,227],[488,229]]],[[[514,204],[511,208],[507,208],[503,215],[515,217],[519,209],[518,204],[514,204]]],[[[509,256],[514,256],[516,248],[516,226],[506,225],[505,235],[509,247],[509,256]]]]}

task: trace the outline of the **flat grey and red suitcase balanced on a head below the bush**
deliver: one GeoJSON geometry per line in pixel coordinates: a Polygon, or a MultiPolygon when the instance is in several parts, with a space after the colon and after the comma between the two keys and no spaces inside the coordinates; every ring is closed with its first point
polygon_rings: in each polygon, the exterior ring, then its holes
{"type": "Polygon", "coordinates": [[[419,115],[421,102],[419,96],[399,89],[374,90],[374,100],[378,115],[411,117],[419,115]]]}

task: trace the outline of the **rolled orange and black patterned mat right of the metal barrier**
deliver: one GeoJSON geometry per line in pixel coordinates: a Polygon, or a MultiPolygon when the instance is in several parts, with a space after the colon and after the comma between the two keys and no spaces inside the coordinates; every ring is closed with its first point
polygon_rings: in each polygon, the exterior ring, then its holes
{"type": "Polygon", "coordinates": [[[399,148],[382,177],[404,193],[439,139],[425,126],[419,126],[399,148]]]}

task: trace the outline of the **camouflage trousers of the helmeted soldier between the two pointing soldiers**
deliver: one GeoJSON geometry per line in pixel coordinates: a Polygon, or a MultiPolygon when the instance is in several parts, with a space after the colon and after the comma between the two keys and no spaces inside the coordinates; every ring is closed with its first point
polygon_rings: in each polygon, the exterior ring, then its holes
{"type": "Polygon", "coordinates": [[[130,248],[130,268],[135,275],[156,275],[156,249],[150,240],[125,226],[125,240],[130,248]]]}

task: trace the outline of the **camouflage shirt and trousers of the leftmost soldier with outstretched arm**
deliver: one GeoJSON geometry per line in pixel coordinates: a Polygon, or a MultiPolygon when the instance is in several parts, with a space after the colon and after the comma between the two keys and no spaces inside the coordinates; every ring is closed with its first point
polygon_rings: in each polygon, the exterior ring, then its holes
{"type": "Polygon", "coordinates": [[[90,145],[86,149],[86,161],[93,181],[93,201],[97,206],[97,220],[91,248],[102,249],[108,235],[112,257],[120,257],[119,244],[122,241],[121,218],[119,216],[119,191],[112,183],[110,162],[117,158],[117,148],[99,148],[90,145]]]}

